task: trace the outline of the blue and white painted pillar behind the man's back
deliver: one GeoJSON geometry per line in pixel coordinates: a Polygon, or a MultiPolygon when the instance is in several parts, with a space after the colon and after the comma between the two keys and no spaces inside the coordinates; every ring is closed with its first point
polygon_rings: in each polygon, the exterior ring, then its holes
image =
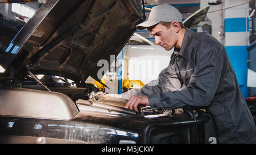
{"type": "MultiPolygon", "coordinates": [[[[226,0],[225,7],[239,5],[245,0],[226,0]]],[[[237,76],[243,97],[249,97],[247,87],[247,62],[249,44],[249,4],[225,9],[225,46],[237,76]]]]}

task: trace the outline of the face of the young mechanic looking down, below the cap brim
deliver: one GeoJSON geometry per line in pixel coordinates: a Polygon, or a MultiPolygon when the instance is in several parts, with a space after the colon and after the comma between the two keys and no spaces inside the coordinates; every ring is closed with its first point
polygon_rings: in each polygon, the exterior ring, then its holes
{"type": "Polygon", "coordinates": [[[151,35],[155,37],[155,44],[162,46],[167,51],[175,47],[177,43],[177,36],[172,26],[167,29],[166,26],[159,23],[152,29],[151,35]]]}

